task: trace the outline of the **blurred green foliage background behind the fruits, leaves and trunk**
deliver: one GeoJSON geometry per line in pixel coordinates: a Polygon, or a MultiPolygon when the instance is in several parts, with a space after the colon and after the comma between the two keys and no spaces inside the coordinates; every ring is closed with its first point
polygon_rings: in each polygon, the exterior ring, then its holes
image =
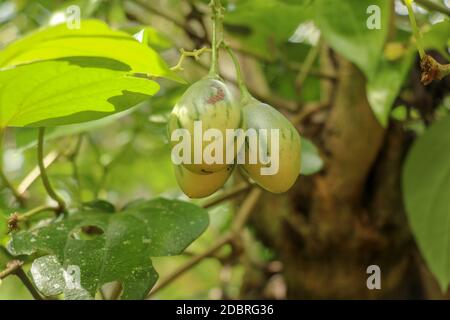
{"type": "MultiPolygon", "coordinates": [[[[289,115],[300,132],[314,143],[305,139],[303,173],[309,177],[299,178],[299,184],[303,184],[301,188],[309,189],[317,188],[311,175],[324,172],[318,173],[323,168],[323,159],[329,156],[320,132],[330,116],[330,105],[339,96],[336,90],[344,90],[336,84],[342,81],[340,59],[354,63],[363,73],[363,76],[358,73],[354,81],[368,80],[367,88],[362,90],[367,90],[371,112],[380,126],[386,128],[392,126],[392,122],[399,123],[401,130],[407,133],[407,145],[411,145],[431,123],[446,117],[450,110],[448,79],[428,88],[418,81],[415,46],[406,7],[401,1],[372,1],[383,10],[392,10],[389,11],[392,17],[382,16],[383,28],[375,34],[365,30],[364,26],[355,29],[351,25],[352,19],[367,20],[370,14],[366,8],[370,1],[319,2],[321,4],[314,0],[223,1],[225,38],[239,55],[251,92],[289,115]],[[317,11],[320,8],[322,15],[317,11]],[[389,37],[388,41],[386,37],[389,37]],[[358,45],[352,46],[355,42],[358,45]]],[[[416,18],[423,27],[427,49],[440,61],[448,62],[450,3],[439,0],[430,3],[426,1],[426,5],[415,6],[416,18]],[[436,10],[433,4],[442,10],[436,10]]],[[[3,0],[0,1],[0,50],[37,28],[64,22],[66,10],[71,5],[80,8],[83,19],[100,19],[130,34],[147,30],[148,45],[158,50],[169,65],[176,64],[180,48],[192,50],[209,44],[210,18],[206,0],[3,0]]],[[[207,55],[198,61],[187,59],[181,75],[192,83],[206,74],[208,65],[207,55]]],[[[225,54],[221,58],[221,71],[230,84],[236,84],[234,67],[225,54]]],[[[350,87],[361,90],[358,85],[350,87]]],[[[163,80],[156,97],[126,112],[95,122],[49,129],[46,138],[48,159],[52,162],[49,172],[58,191],[74,206],[94,199],[107,200],[118,208],[130,201],[156,196],[187,199],[176,185],[166,137],[167,115],[185,89],[185,85],[163,80]]],[[[366,92],[363,95],[366,96],[366,92]]],[[[356,116],[354,121],[362,120],[356,116]]],[[[353,124],[347,123],[348,126],[353,124]]],[[[368,126],[367,130],[370,128],[368,126]]],[[[16,185],[26,180],[36,167],[36,136],[37,131],[31,128],[7,132],[4,170],[16,185]]],[[[354,136],[354,139],[366,139],[366,135],[354,136]]],[[[364,143],[370,143],[370,139],[364,143]]],[[[376,158],[376,161],[381,159],[376,158]]],[[[326,164],[325,161],[325,171],[326,164]]],[[[393,170],[393,175],[400,175],[400,168],[393,170]]],[[[225,188],[239,179],[239,176],[232,179],[225,188]]],[[[372,174],[370,179],[376,178],[372,174]]],[[[367,180],[366,188],[370,189],[372,180],[367,180]]],[[[42,199],[50,203],[39,182],[27,188],[30,207],[41,204],[42,199]]],[[[312,198],[311,193],[298,190],[289,195],[291,201],[295,199],[297,204],[294,206],[299,211],[309,209],[305,208],[309,206],[305,194],[312,198]]],[[[272,199],[272,203],[275,210],[281,212],[285,209],[279,199],[284,198],[277,199],[272,199]]],[[[402,206],[401,198],[396,198],[395,202],[402,206]]],[[[238,205],[239,201],[230,201],[210,210],[210,227],[184,255],[154,259],[160,277],[175,270],[192,255],[206,250],[224,234],[238,205]]],[[[0,269],[10,258],[4,249],[8,241],[6,217],[15,206],[10,191],[2,189],[0,269]]],[[[258,215],[259,211],[262,209],[257,209],[254,214],[258,215]]],[[[274,215],[274,219],[277,217],[274,215]]],[[[402,223],[407,225],[405,221],[402,223]]],[[[283,270],[290,260],[283,255],[299,253],[295,247],[291,247],[290,253],[280,253],[273,241],[266,241],[267,234],[260,229],[250,225],[243,235],[241,248],[224,247],[217,256],[205,259],[154,298],[287,298],[290,282],[283,270]]],[[[297,239],[298,243],[301,241],[297,239]]],[[[304,252],[299,255],[302,254],[304,252]]],[[[328,261],[324,258],[320,263],[327,264],[328,261]]],[[[28,267],[26,265],[25,269],[28,267]]],[[[430,286],[436,286],[434,280],[430,286]]],[[[430,290],[433,292],[430,296],[435,297],[436,290],[430,290]]],[[[430,297],[421,293],[416,295],[412,289],[408,292],[397,292],[397,296],[430,297]]],[[[354,293],[352,297],[366,297],[358,294],[354,293]]],[[[321,296],[317,292],[310,296],[340,297],[333,293],[321,296]]],[[[8,277],[0,284],[0,299],[29,298],[30,294],[16,277],[8,277]]]]}

